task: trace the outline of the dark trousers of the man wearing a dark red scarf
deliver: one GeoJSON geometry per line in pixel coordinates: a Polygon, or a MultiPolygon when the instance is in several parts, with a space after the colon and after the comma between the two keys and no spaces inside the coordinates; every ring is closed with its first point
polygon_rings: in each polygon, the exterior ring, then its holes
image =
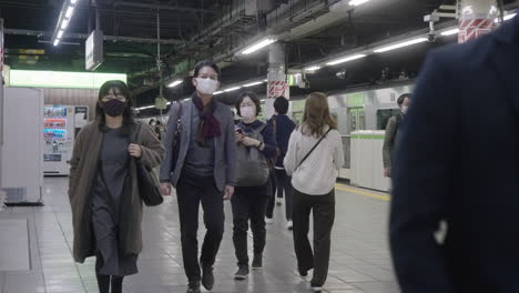
{"type": "Polygon", "coordinates": [[[201,280],[197,260],[199,209],[202,202],[204,210],[205,233],[200,262],[203,265],[214,264],[224,233],[223,193],[216,189],[214,179],[182,173],[176,186],[181,224],[182,257],[184,270],[191,283],[201,280]]]}

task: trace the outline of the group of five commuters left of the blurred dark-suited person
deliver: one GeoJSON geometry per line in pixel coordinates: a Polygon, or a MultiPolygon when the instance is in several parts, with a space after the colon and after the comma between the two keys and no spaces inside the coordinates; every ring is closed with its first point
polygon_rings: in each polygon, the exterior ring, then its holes
{"type": "Polygon", "coordinates": [[[176,191],[189,293],[214,286],[213,267],[224,234],[227,200],[233,213],[235,279],[245,280],[251,267],[263,269],[266,223],[273,221],[276,193],[285,198],[298,271],[306,277],[315,267],[311,284],[314,291],[322,290],[335,215],[334,182],[344,162],[327,98],[323,93],[308,97],[298,129],[287,117],[288,101],[283,97],[275,100],[275,115],[262,122],[261,101],[254,92],[237,97],[236,115],[214,99],[220,74],[214,62],[197,63],[195,91],[191,99],[173,103],[165,129],[157,120],[143,125],[134,119],[132,98],[123,82],[102,85],[96,120],[80,132],[74,145],[69,189],[74,259],[96,257],[101,293],[121,292],[123,277],[138,272],[144,196],[139,170],[159,165],[161,193],[176,191]],[[311,174],[311,170],[318,172],[311,174]],[[200,205],[206,233],[199,254],[200,205]],[[307,239],[311,212],[315,252],[307,239]]]}

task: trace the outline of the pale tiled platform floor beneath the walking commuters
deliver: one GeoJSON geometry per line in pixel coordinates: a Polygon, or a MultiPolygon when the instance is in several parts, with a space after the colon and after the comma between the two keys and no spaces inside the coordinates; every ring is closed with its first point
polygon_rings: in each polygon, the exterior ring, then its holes
{"type": "MultiPolygon", "coordinates": [[[[93,260],[75,264],[71,257],[72,226],[67,185],[67,179],[45,179],[43,208],[9,208],[0,212],[0,219],[28,219],[31,256],[30,271],[0,272],[1,293],[98,292],[93,260]]],[[[388,196],[346,185],[337,189],[337,216],[325,292],[399,292],[387,244],[388,196]]],[[[276,208],[275,224],[267,226],[265,269],[253,272],[247,281],[233,280],[236,259],[230,208],[227,203],[226,230],[215,264],[216,285],[212,292],[311,292],[295,270],[292,233],[285,228],[284,206],[276,208]]],[[[186,279],[182,269],[174,196],[169,196],[159,208],[146,208],[143,231],[140,274],[125,279],[124,291],[184,293],[186,279]]],[[[200,234],[203,232],[201,229],[200,234]]],[[[252,249],[252,239],[250,246],[252,249]]]]}

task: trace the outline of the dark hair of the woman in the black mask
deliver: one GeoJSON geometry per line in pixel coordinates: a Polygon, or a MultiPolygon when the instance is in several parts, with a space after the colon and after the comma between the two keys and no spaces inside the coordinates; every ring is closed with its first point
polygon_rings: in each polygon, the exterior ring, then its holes
{"type": "Polygon", "coordinates": [[[109,93],[111,89],[119,89],[121,93],[124,94],[124,98],[126,98],[126,108],[124,108],[123,112],[123,127],[130,128],[131,125],[135,124],[132,93],[128,89],[126,83],[120,80],[110,80],[101,85],[101,89],[99,90],[98,104],[95,105],[95,120],[98,121],[101,129],[106,125],[106,118],[104,110],[101,107],[101,100],[109,93]]]}

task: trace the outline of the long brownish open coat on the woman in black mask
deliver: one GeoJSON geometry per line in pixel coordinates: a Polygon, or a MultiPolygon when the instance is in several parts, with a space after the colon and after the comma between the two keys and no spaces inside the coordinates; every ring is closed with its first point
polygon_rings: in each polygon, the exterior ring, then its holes
{"type": "MultiPolygon", "coordinates": [[[[132,127],[132,133],[136,125],[132,127]]],[[[92,232],[90,199],[92,184],[100,161],[103,133],[98,122],[84,127],[78,134],[70,161],[69,199],[72,208],[74,230],[73,256],[77,262],[94,255],[95,241],[92,232]]],[[[164,156],[164,146],[156,139],[151,127],[143,124],[138,135],[142,149],[142,163],[151,169],[157,166],[164,156]]],[[[124,182],[121,199],[119,226],[119,249],[124,255],[139,254],[142,251],[142,200],[136,185],[135,161],[130,160],[129,176],[124,182]]]]}

